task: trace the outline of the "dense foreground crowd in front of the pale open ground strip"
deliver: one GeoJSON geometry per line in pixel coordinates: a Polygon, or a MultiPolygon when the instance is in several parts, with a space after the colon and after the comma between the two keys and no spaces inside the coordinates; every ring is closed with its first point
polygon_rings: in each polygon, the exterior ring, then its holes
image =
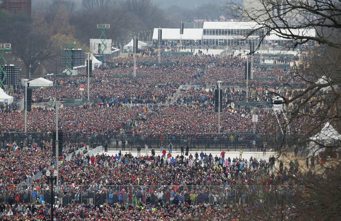
{"type": "MultiPolygon", "coordinates": [[[[45,173],[46,167],[42,171],[45,173]]],[[[55,193],[59,205],[53,205],[54,217],[197,220],[196,213],[203,212],[210,220],[241,219],[245,214],[240,206],[250,211],[259,206],[254,195],[267,198],[262,203],[280,205],[293,198],[291,188],[307,176],[298,172],[296,162],[288,168],[280,163],[278,173],[274,171],[274,157],[268,161],[241,156],[231,159],[225,158],[224,151],[220,156],[204,152],[160,156],[153,150],[136,157],[128,152],[115,156],[78,153],[59,168],[60,189],[55,193]]],[[[50,216],[51,195],[44,177],[19,189],[13,184],[1,185],[0,193],[2,220],[47,220],[50,216]]]]}

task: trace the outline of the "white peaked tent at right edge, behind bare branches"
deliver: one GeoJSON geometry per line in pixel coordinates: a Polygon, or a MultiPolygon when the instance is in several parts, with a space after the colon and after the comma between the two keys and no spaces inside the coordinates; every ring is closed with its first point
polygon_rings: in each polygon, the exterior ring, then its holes
{"type": "Polygon", "coordinates": [[[318,154],[319,151],[323,151],[324,148],[320,150],[318,144],[330,145],[332,146],[335,141],[341,140],[341,134],[337,132],[329,122],[322,128],[320,132],[309,138],[311,140],[309,144],[310,153],[318,154]]]}

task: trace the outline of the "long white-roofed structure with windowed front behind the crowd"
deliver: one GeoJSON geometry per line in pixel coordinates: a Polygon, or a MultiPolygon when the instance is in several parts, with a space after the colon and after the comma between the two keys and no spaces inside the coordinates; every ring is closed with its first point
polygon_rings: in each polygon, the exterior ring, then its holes
{"type": "MultiPolygon", "coordinates": [[[[292,40],[278,35],[275,31],[267,33],[267,30],[260,28],[256,22],[252,21],[205,21],[203,28],[184,29],[181,37],[185,46],[249,46],[251,42],[260,46],[280,46],[285,47],[293,43],[292,40]],[[263,41],[260,41],[262,40],[263,41]]],[[[162,28],[162,44],[180,45],[179,28],[162,28]]],[[[315,36],[314,29],[293,30],[295,34],[305,36],[315,36]]],[[[157,28],[153,32],[153,41],[158,40],[157,28]]],[[[310,46],[314,46],[314,41],[309,41],[310,46]]]]}

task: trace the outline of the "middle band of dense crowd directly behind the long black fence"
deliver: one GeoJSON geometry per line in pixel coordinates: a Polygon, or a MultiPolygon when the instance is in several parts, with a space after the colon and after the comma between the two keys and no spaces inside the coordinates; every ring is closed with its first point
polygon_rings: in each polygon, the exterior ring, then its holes
{"type": "MultiPolygon", "coordinates": [[[[23,112],[0,114],[0,132],[24,130],[23,112]]],[[[221,114],[222,132],[256,131],[268,133],[272,114],[266,110],[225,108],[221,114]],[[252,122],[252,114],[259,114],[257,125],[252,122]]],[[[53,108],[33,108],[28,113],[28,132],[47,132],[55,127],[53,108]]],[[[197,135],[216,133],[217,113],[213,104],[198,106],[167,105],[159,107],[122,107],[109,104],[86,104],[75,108],[59,109],[59,127],[70,136],[82,134],[117,134],[123,129],[126,133],[140,135],[197,135]],[[127,129],[128,127],[128,129],[127,129]]]]}

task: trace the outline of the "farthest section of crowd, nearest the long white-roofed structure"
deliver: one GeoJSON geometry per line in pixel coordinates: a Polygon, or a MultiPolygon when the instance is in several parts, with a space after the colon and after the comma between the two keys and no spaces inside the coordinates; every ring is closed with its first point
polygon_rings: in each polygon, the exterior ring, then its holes
{"type": "MultiPolygon", "coordinates": [[[[139,61],[152,60],[154,57],[141,57],[139,61]]],[[[120,103],[165,103],[179,87],[179,84],[206,84],[221,80],[226,85],[245,86],[244,57],[237,56],[187,56],[165,57],[173,65],[148,67],[140,65],[137,74],[143,77],[132,79],[120,77],[132,75],[131,58],[117,58],[115,65],[103,70],[93,70],[90,83],[90,97],[114,100],[120,103]]],[[[284,69],[255,70],[255,79],[249,80],[249,86],[280,86],[293,78],[292,71],[284,69]]],[[[35,88],[33,101],[46,102],[53,99],[81,98],[87,95],[87,76],[79,71],[77,77],[51,77],[56,85],[53,88],[35,88]],[[80,91],[80,85],[85,85],[80,91]]],[[[291,84],[300,84],[295,79],[291,84]]],[[[23,96],[23,91],[16,91],[23,96]]]]}

